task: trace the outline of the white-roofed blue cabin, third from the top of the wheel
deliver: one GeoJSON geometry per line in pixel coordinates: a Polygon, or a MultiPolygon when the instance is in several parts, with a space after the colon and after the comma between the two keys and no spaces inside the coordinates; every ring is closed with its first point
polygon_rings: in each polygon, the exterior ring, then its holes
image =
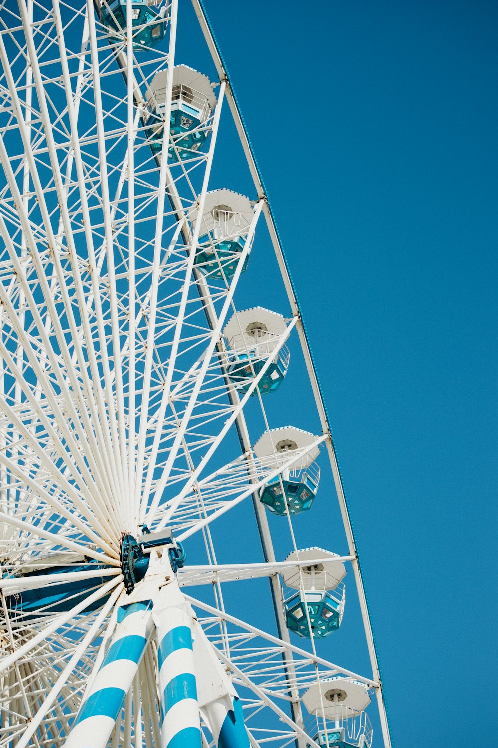
{"type": "MultiPolygon", "coordinates": [[[[197,214],[197,207],[194,206],[190,210],[193,226],[197,214]]],[[[208,192],[196,248],[196,268],[210,278],[232,278],[253,218],[249,197],[229,189],[208,192]]],[[[242,272],[248,263],[249,254],[243,262],[242,272]]]]}

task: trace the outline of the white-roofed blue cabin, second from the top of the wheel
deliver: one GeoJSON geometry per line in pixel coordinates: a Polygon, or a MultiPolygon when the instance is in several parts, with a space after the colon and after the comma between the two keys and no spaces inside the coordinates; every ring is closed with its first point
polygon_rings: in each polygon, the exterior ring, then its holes
{"type": "MultiPolygon", "coordinates": [[[[167,83],[168,71],[159,70],[146,95],[145,132],[154,153],[159,153],[163,147],[167,83]]],[[[172,136],[168,150],[170,162],[192,158],[205,144],[210,133],[208,120],[216,102],[208,76],[187,65],[175,65],[169,117],[172,136]]]]}

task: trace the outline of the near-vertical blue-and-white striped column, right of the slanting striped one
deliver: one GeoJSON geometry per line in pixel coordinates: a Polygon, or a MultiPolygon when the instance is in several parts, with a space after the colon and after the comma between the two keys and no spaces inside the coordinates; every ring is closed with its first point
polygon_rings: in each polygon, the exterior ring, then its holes
{"type": "Polygon", "coordinates": [[[161,748],[201,748],[192,621],[185,607],[155,613],[158,637],[161,748]]]}

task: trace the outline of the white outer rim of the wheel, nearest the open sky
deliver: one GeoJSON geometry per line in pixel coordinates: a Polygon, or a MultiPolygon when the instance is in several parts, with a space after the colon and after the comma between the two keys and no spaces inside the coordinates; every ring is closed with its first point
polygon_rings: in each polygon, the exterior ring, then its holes
{"type": "Polygon", "coordinates": [[[306,367],[307,367],[308,374],[310,377],[311,386],[313,388],[314,399],[315,399],[315,402],[317,403],[317,409],[320,415],[320,422],[322,424],[323,433],[329,435],[329,439],[327,439],[327,452],[329,453],[329,461],[330,461],[332,473],[334,476],[334,484],[335,484],[335,488],[337,491],[337,499],[339,501],[340,512],[343,518],[343,525],[344,525],[344,530],[346,532],[346,539],[348,542],[349,553],[353,556],[352,569],[355,575],[355,583],[356,583],[356,588],[358,591],[358,600],[359,600],[359,604],[361,608],[361,616],[364,622],[364,631],[365,631],[365,637],[367,639],[367,647],[368,647],[368,652],[370,655],[370,663],[373,669],[373,676],[377,681],[379,681],[379,687],[376,688],[376,696],[379,702],[379,713],[380,713],[380,720],[381,720],[381,725],[382,725],[382,735],[384,738],[385,748],[392,748],[392,741],[391,741],[391,736],[390,736],[390,725],[389,725],[389,720],[387,717],[385,697],[384,697],[384,693],[382,689],[382,674],[381,674],[381,670],[379,666],[379,658],[378,658],[377,651],[376,651],[376,643],[373,637],[372,624],[370,621],[370,612],[368,610],[367,598],[366,598],[365,591],[364,591],[364,583],[363,583],[363,578],[361,574],[361,567],[360,567],[360,563],[358,560],[358,548],[357,548],[356,541],[355,541],[355,535],[352,530],[352,523],[351,523],[351,518],[349,515],[349,507],[347,505],[346,496],[344,494],[344,489],[343,489],[343,484],[342,484],[342,479],[340,476],[340,470],[337,464],[337,456],[335,454],[334,443],[332,441],[332,429],[329,423],[329,416],[326,411],[326,405],[323,399],[323,393],[322,393],[320,383],[317,378],[317,372],[315,369],[313,356],[311,354],[311,348],[310,348],[309,341],[308,341],[308,335],[305,331],[305,326],[302,321],[299,301],[297,300],[296,291],[293,286],[293,281],[290,278],[290,272],[287,267],[287,261],[284,256],[284,251],[281,247],[281,241],[278,235],[278,230],[277,230],[275,219],[273,216],[273,211],[270,207],[270,203],[267,197],[266,190],[264,188],[264,183],[261,177],[261,173],[256,163],[251,144],[249,143],[249,138],[246,132],[246,127],[244,126],[243,119],[241,117],[240,110],[237,105],[237,100],[235,99],[234,93],[231,89],[231,83],[230,83],[230,79],[228,76],[228,72],[225,68],[224,62],[222,61],[220,51],[214,39],[214,35],[211,31],[211,25],[208,21],[208,17],[205,14],[205,9],[203,7],[202,0],[192,0],[192,4],[195,10],[197,19],[199,20],[199,25],[202,29],[202,33],[204,34],[206,43],[208,44],[208,49],[211,52],[211,57],[217,68],[218,75],[220,76],[220,81],[226,82],[225,96],[228,101],[228,105],[230,106],[231,114],[234,118],[234,124],[237,128],[237,132],[240,137],[240,142],[243,146],[244,153],[246,154],[247,163],[249,165],[252,178],[254,180],[255,188],[258,191],[258,197],[264,200],[265,202],[264,213],[267,218],[268,229],[270,231],[273,248],[276,252],[278,266],[280,267],[280,270],[281,270],[281,275],[282,275],[284,285],[287,291],[287,297],[290,302],[290,307],[291,307],[293,315],[296,315],[299,317],[299,322],[297,325],[297,329],[299,333],[299,340],[302,346],[303,355],[305,357],[305,363],[306,363],[306,367]]]}

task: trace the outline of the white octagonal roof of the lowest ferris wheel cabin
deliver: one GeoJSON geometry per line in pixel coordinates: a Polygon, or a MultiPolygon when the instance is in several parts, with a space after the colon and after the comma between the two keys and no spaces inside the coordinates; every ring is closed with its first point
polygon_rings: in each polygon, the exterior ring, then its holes
{"type": "Polygon", "coordinates": [[[302,701],[310,714],[322,714],[329,719],[340,719],[341,705],[363,711],[370,704],[367,686],[352,678],[327,678],[315,683],[302,694],[302,701]]]}

